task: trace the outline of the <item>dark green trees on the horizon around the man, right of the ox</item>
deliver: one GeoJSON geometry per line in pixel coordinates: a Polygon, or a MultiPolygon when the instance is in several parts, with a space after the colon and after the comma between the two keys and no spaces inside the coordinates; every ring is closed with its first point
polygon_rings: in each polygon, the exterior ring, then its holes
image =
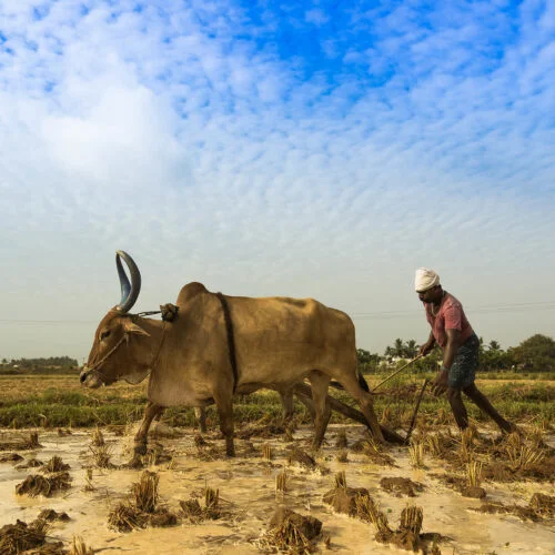
{"type": "MultiPolygon", "coordinates": [[[[414,340],[403,341],[397,337],[393,345],[385,347],[383,355],[359,349],[356,351],[359,367],[363,372],[376,372],[380,366],[391,366],[401,360],[414,359],[418,354],[418,347],[414,340]]],[[[436,370],[442,359],[442,351],[436,346],[426,357],[416,361],[414,367],[422,371],[436,370]]],[[[485,344],[483,337],[480,337],[480,370],[554,372],[555,341],[547,335],[536,333],[519,345],[503,350],[498,341],[492,340],[485,344]]]]}

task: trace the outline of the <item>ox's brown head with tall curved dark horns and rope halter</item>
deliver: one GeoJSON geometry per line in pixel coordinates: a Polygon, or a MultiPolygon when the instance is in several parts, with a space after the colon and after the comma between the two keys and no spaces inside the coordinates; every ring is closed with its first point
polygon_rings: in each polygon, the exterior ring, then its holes
{"type": "Polygon", "coordinates": [[[141,349],[139,344],[139,340],[149,336],[149,333],[134,321],[139,320],[137,316],[128,313],[141,291],[141,274],[133,259],[123,251],[117,252],[115,265],[121,284],[121,301],[102,319],[94,334],[89,360],[80,375],[81,383],[87,387],[109,385],[120,379],[139,383],[150,372],[150,360],[145,356],[150,349],[141,349]],[[121,259],[129,268],[131,282],[121,259]]]}

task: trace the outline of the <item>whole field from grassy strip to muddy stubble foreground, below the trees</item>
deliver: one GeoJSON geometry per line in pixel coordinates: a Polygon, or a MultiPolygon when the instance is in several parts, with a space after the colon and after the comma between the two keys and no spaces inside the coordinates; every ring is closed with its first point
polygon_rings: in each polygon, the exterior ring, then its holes
{"type": "MultiPolygon", "coordinates": [[[[401,434],[420,380],[376,395],[379,418],[401,434]]],[[[554,553],[549,380],[480,383],[521,435],[501,436],[471,403],[461,435],[446,400],[426,393],[411,444],[395,447],[334,413],[312,452],[304,407],[285,424],[278,395],[258,392],[236,400],[228,458],[213,408],[203,435],[191,408],[171,408],[140,468],[127,463],[145,383],[83,391],[77,375],[0,376],[0,386],[2,555],[554,553]]]]}

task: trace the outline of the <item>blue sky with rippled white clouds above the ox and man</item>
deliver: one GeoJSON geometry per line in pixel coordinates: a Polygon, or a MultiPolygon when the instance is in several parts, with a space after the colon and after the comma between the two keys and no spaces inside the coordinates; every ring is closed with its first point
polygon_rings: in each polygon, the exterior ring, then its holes
{"type": "Polygon", "coordinates": [[[88,356],[200,281],[428,335],[434,269],[555,336],[555,0],[0,0],[0,357],[88,356]]]}

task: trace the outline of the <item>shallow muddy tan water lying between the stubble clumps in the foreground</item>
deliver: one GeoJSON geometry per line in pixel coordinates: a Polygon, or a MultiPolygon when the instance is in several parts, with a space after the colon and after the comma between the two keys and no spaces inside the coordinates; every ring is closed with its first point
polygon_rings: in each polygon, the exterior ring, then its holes
{"type": "MultiPolygon", "coordinates": [[[[344,514],[335,514],[323,503],[323,494],[334,486],[334,476],[344,471],[350,487],[366,487],[371,496],[387,515],[390,524],[396,526],[401,511],[407,504],[421,506],[424,511],[422,532],[440,533],[450,541],[441,544],[443,553],[554,553],[555,533],[553,523],[522,522],[512,515],[481,514],[472,511],[478,507],[478,500],[462,497],[447,488],[431,473],[443,472],[436,461],[426,460],[426,468],[411,467],[407,450],[391,448],[397,467],[377,466],[364,454],[349,452],[347,462],[339,462],[335,435],[346,431],[349,444],[362,436],[362,426],[330,426],[327,443],[315,456],[319,467],[307,470],[299,464],[289,464],[287,454],[292,445],[309,451],[312,431],[300,428],[294,442],[282,437],[238,440],[238,457],[224,457],[223,441],[215,433],[205,435],[210,445],[196,447],[193,433],[182,437],[151,438],[159,443],[170,460],[151,465],[150,471],[160,476],[160,503],[180,515],[180,501],[202,496],[204,488],[219,490],[220,505],[225,517],[201,524],[188,524],[180,518],[175,526],[145,528],[132,533],[119,533],[108,527],[108,514],[123,501],[133,483],[139,482],[142,471],[129,468],[98,468],[93,463],[90,430],[73,430],[70,435],[39,431],[40,448],[16,451],[24,461],[0,463],[0,526],[33,521],[41,509],[53,508],[65,512],[69,522],[56,522],[49,533],[52,541],[69,545],[74,535],[81,536],[94,549],[125,553],[182,554],[195,551],[201,554],[260,553],[256,541],[266,532],[268,523],[280,504],[303,515],[311,515],[323,523],[322,532],[330,536],[329,549],[337,553],[407,553],[374,539],[375,529],[370,523],[344,514]],[[271,461],[262,458],[263,445],[270,445],[271,461]],[[52,497],[17,495],[16,485],[29,474],[39,474],[38,468],[20,468],[32,457],[47,463],[52,456],[60,456],[70,465],[71,487],[52,497]],[[94,491],[84,491],[88,484],[87,470],[92,470],[94,491]],[[275,477],[286,472],[286,491],[275,492],[275,477]],[[416,497],[397,497],[380,486],[385,476],[402,476],[424,485],[416,497]]],[[[180,431],[181,432],[181,431],[180,431]]],[[[183,431],[188,432],[188,431],[183,431]]],[[[124,436],[103,431],[105,442],[111,446],[111,461],[115,465],[130,458],[132,431],[124,436]]],[[[21,437],[12,431],[2,431],[1,441],[21,437]]],[[[2,452],[4,454],[8,452],[2,452]]],[[[486,483],[484,487],[490,501],[525,504],[533,493],[554,495],[552,484],[486,483]]],[[[320,552],[329,551],[321,541],[320,552]]]]}

